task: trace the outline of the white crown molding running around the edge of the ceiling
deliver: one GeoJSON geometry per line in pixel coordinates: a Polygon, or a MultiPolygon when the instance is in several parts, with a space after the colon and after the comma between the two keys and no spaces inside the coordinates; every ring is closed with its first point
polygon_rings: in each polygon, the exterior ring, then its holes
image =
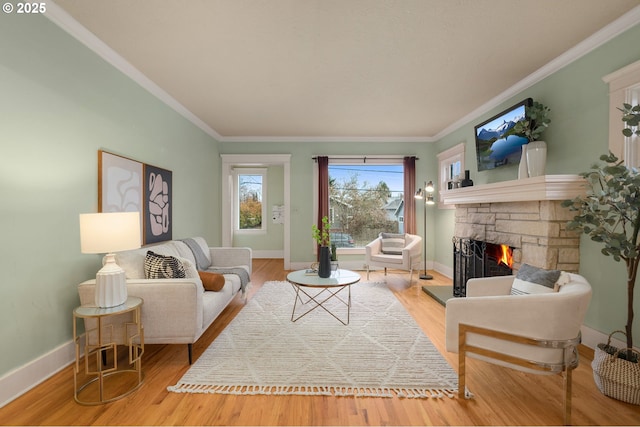
{"type": "Polygon", "coordinates": [[[58,25],[64,31],[69,33],[72,37],[80,41],[89,49],[94,51],[100,57],[102,57],[109,64],[113,65],[116,69],[120,70],[126,76],[145,88],[151,94],[156,96],[160,101],[173,108],[176,112],[181,114],[187,120],[191,121],[194,125],[202,129],[209,136],[219,142],[435,142],[450,134],[451,132],[461,128],[477,117],[491,111],[492,109],[500,106],[502,103],[508,101],[510,98],[516,96],[518,93],[540,82],[544,78],[550,76],[556,71],[569,65],[576,59],[581,58],[597,47],[608,42],[612,38],[618,36],[634,25],[640,23],[640,6],[636,6],[620,18],[613,21],[611,24],[600,29],[596,33],[592,34],[582,42],[578,43],[571,49],[567,50],[562,55],[548,62],[538,70],[531,73],[509,89],[505,90],[498,96],[491,99],[489,102],[476,108],[471,113],[465,115],[458,121],[454,122],[450,126],[446,127],[438,134],[434,136],[417,136],[417,137],[403,137],[403,136],[384,136],[384,137],[339,137],[339,136],[222,136],[209,125],[203,122],[195,114],[189,111],[184,105],[179,103],[175,98],[165,92],[137,68],[135,68],[126,59],[116,53],[113,49],[107,46],[102,40],[96,37],[92,32],[87,30],[83,25],[76,21],[71,15],[64,11],[60,6],[54,3],[53,0],[47,2],[47,11],[45,16],[54,24],[58,25]]]}

